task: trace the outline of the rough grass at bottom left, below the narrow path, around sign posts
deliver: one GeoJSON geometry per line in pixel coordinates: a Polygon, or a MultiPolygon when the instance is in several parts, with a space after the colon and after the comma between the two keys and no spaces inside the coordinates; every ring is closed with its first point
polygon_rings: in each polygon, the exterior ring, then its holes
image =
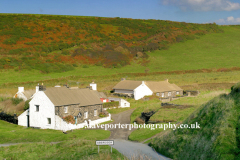
{"type": "Polygon", "coordinates": [[[0,159],[126,159],[116,149],[113,148],[112,151],[111,153],[110,146],[100,146],[98,154],[95,141],[76,139],[58,144],[41,142],[0,147],[0,159]]]}

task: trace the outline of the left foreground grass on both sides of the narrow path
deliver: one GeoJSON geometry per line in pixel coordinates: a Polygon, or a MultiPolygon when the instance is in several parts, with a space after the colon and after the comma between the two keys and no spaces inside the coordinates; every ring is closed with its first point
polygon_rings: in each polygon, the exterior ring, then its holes
{"type": "Polygon", "coordinates": [[[110,146],[101,146],[98,154],[95,140],[109,136],[110,131],[105,130],[80,129],[63,134],[57,130],[25,128],[0,120],[0,143],[22,143],[0,147],[0,159],[126,159],[115,149],[111,153],[110,146]]]}

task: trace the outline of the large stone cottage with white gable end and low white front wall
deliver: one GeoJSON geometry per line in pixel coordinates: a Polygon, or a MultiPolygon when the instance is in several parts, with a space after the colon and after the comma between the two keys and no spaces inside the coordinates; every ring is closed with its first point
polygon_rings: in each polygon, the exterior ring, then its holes
{"type": "Polygon", "coordinates": [[[39,90],[29,102],[29,109],[18,117],[18,124],[67,131],[111,120],[110,114],[99,117],[103,108],[95,92],[88,88],[67,87],[39,90]],[[74,117],[75,124],[64,121],[64,117],[69,115],[74,117]]]}

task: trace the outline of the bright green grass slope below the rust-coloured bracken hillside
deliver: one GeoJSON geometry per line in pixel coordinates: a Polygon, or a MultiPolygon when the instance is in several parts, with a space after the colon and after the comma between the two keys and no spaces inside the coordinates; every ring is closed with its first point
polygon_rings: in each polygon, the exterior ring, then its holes
{"type": "MultiPolygon", "coordinates": [[[[147,66],[142,66],[133,61],[131,62],[131,65],[127,65],[122,68],[110,69],[103,68],[101,66],[89,66],[89,68],[76,67],[72,71],[49,74],[43,74],[34,69],[22,71],[2,70],[0,72],[0,84],[9,82],[19,83],[43,81],[48,79],[56,79],[57,81],[59,79],[60,81],[65,81],[66,83],[68,79],[81,79],[82,81],[82,79],[86,76],[93,76],[93,78],[96,79],[103,78],[103,76],[110,76],[113,78],[111,75],[130,77],[136,76],[131,75],[132,73],[144,73],[146,68],[149,69],[149,73],[153,73],[203,68],[215,68],[215,70],[213,69],[214,72],[219,68],[240,67],[238,63],[239,54],[237,54],[240,51],[238,45],[240,27],[222,26],[221,28],[224,30],[224,33],[205,35],[200,39],[174,44],[169,48],[169,50],[160,50],[148,53],[150,56],[150,62],[147,66]]],[[[160,76],[160,74],[156,73],[153,76],[160,76]]],[[[164,76],[164,78],[166,78],[166,75],[164,76]]],[[[174,75],[168,75],[170,78],[172,78],[172,76],[174,75]]],[[[179,77],[180,81],[189,81],[190,77],[187,75],[181,76],[182,77],[179,77]]],[[[206,74],[197,74],[197,76],[201,79],[208,78],[206,74]]],[[[198,81],[197,79],[196,81],[198,81]]],[[[215,79],[215,81],[217,80],[215,79]]]]}

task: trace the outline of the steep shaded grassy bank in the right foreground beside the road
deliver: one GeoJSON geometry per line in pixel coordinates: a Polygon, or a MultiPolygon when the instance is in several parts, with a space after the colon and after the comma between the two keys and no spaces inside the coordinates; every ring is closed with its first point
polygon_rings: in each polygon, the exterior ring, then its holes
{"type": "Polygon", "coordinates": [[[202,105],[183,124],[200,129],[177,129],[151,142],[159,153],[178,160],[240,158],[240,84],[202,105]]]}

